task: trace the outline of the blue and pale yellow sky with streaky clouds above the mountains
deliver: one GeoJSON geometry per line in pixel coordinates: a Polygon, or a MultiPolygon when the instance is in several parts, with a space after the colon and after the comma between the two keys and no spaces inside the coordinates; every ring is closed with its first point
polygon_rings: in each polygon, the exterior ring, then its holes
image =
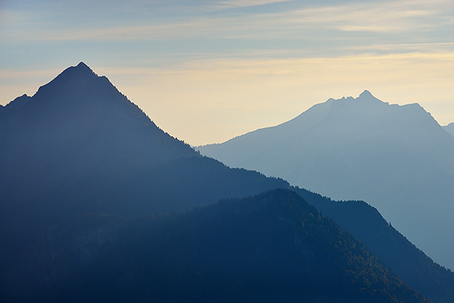
{"type": "Polygon", "coordinates": [[[365,89],[454,121],[453,0],[0,0],[1,105],[80,61],[191,145],[365,89]]]}

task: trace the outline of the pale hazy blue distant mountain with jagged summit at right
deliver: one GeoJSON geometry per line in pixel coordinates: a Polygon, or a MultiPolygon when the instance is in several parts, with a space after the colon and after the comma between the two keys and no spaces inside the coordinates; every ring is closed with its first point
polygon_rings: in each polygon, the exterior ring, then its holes
{"type": "Polygon", "coordinates": [[[335,200],[365,200],[454,268],[454,138],[416,103],[390,105],[364,91],[198,149],[335,200]]]}

